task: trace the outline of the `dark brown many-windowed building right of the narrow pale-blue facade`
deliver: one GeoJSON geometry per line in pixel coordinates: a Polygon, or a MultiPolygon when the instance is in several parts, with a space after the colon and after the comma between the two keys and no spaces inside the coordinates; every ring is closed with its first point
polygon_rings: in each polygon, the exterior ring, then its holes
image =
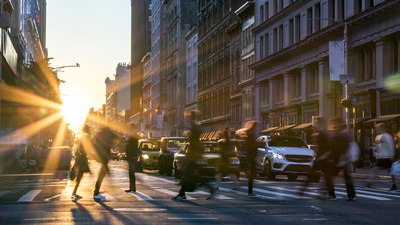
{"type": "Polygon", "coordinates": [[[199,122],[204,131],[209,131],[208,137],[203,138],[215,139],[217,131],[230,127],[230,48],[234,44],[226,30],[237,21],[235,11],[245,2],[197,1],[198,107],[202,111],[199,122]]]}

